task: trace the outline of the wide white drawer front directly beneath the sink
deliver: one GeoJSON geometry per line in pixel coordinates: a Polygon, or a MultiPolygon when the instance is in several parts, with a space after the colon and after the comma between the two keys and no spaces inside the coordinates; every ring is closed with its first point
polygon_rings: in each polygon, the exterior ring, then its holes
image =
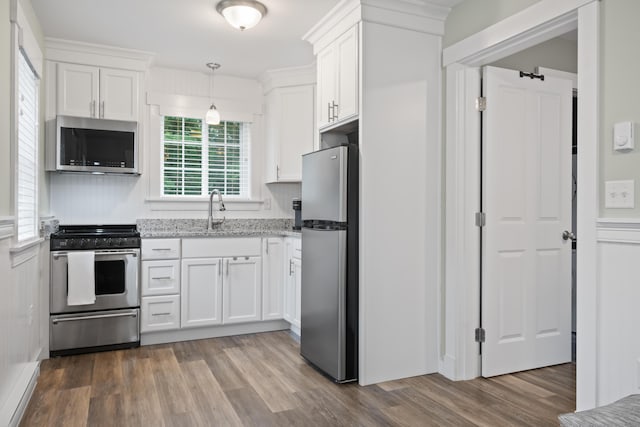
{"type": "Polygon", "coordinates": [[[214,237],[182,240],[183,258],[259,256],[260,238],[214,237]]]}

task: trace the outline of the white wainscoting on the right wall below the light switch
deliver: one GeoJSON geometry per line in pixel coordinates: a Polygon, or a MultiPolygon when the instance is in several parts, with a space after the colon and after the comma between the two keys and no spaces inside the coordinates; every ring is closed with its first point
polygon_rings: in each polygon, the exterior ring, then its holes
{"type": "Polygon", "coordinates": [[[639,219],[598,221],[598,264],[597,401],[605,405],[640,393],[639,219]]]}

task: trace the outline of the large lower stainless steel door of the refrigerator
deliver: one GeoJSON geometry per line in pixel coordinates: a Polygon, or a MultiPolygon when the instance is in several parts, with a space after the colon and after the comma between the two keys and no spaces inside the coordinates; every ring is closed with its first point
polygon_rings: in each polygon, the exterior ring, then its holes
{"type": "Polygon", "coordinates": [[[300,352],[337,381],[346,378],[346,230],[302,229],[300,352]]]}

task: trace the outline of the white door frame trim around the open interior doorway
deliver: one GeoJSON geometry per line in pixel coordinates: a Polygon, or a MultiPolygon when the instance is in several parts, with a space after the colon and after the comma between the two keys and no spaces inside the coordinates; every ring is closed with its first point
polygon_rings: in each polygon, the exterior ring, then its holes
{"type": "Polygon", "coordinates": [[[596,0],[542,0],[443,50],[446,69],[445,281],[439,371],[464,380],[480,375],[474,329],[480,317],[480,66],[578,29],[578,293],[576,407],[597,399],[597,247],[599,14],[596,0]]]}

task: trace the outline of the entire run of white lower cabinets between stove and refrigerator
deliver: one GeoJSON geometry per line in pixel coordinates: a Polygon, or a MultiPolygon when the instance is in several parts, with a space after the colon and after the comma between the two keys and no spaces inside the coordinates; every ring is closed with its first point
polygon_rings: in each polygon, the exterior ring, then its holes
{"type": "Polygon", "coordinates": [[[147,342],[250,322],[281,328],[283,318],[299,330],[299,238],[143,239],[142,249],[141,331],[168,332],[147,342]]]}

